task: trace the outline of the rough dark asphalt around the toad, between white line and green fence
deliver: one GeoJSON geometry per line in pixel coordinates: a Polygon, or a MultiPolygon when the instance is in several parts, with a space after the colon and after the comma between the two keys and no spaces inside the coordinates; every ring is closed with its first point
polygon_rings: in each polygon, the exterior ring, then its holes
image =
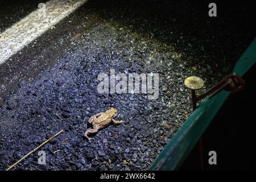
{"type": "MultiPolygon", "coordinates": [[[[89,1],[0,65],[0,169],[64,129],[20,170],[146,169],[192,112],[187,76],[203,92],[232,71],[255,36],[255,13],[234,1],[89,1]],[[235,12],[235,13],[234,13],[235,12]],[[159,98],[100,94],[97,76],[159,73],[159,98]],[[115,107],[121,125],[83,134],[91,115],[115,107]]],[[[255,7],[255,6],[254,6],[255,7]]]]}

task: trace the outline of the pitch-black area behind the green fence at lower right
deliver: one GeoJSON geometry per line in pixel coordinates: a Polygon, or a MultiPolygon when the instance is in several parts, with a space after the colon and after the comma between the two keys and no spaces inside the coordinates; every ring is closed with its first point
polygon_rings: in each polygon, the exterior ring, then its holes
{"type": "MultiPolygon", "coordinates": [[[[243,79],[246,88],[229,97],[203,135],[205,170],[256,169],[256,65],[243,79]],[[217,165],[208,164],[209,151],[217,152],[217,165]]],[[[180,169],[200,169],[199,144],[180,169]]]]}

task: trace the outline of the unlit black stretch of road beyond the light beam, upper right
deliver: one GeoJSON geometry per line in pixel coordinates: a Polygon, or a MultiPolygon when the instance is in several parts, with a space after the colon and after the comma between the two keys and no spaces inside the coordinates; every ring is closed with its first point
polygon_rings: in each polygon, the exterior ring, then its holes
{"type": "Polygon", "coordinates": [[[217,1],[217,17],[209,17],[211,1],[89,1],[101,18],[173,46],[189,65],[234,63],[255,37],[255,2],[217,1]]]}

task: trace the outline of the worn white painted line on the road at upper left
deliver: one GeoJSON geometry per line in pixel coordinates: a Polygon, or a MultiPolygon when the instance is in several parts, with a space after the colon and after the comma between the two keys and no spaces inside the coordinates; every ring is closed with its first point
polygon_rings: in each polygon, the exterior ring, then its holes
{"type": "Polygon", "coordinates": [[[87,0],[51,0],[0,33],[0,64],[38,38],[87,0]]]}

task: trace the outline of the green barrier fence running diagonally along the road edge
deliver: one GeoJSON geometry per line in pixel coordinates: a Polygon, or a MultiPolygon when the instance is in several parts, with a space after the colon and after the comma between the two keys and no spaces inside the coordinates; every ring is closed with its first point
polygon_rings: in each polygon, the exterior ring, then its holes
{"type": "MultiPolygon", "coordinates": [[[[237,61],[233,73],[243,76],[256,61],[256,38],[237,61]]],[[[163,151],[151,164],[149,170],[176,170],[197,143],[230,92],[221,91],[204,101],[189,116],[163,151]]]]}

